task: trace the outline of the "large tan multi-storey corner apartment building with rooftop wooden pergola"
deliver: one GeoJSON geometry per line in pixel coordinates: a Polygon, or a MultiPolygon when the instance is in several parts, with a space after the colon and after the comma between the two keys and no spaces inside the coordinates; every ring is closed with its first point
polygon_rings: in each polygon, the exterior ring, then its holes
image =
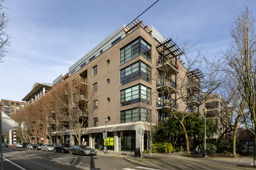
{"type": "MultiPolygon", "coordinates": [[[[183,112],[199,110],[200,71],[188,71],[180,59],[182,51],[154,26],[147,27],[139,20],[135,22],[134,25],[119,27],[73,64],[69,73],[60,75],[53,82],[61,83],[78,76],[86,80],[84,85],[93,87],[96,97],[93,101],[94,115],[88,120],[92,126],[86,127],[81,137],[82,143],[93,149],[104,146],[106,142],[103,138],[106,117],[110,117],[107,122],[108,150],[134,151],[141,147],[139,128],[147,130],[150,119],[164,121],[169,117],[170,109],[183,112]],[[159,78],[163,76],[166,79],[159,78]],[[168,97],[163,86],[171,94],[168,97]],[[179,88],[186,91],[186,99],[179,97],[179,88]]],[[[50,88],[45,85],[37,85],[40,88],[36,86],[22,100],[27,104],[34,102],[41,88],[43,91],[50,88]]],[[[53,131],[52,135],[54,143],[60,142],[57,132],[53,131]]],[[[45,138],[48,143],[47,134],[45,138]]],[[[142,140],[142,148],[148,150],[146,133],[142,140]]],[[[67,130],[63,142],[77,144],[72,128],[67,130]]]]}

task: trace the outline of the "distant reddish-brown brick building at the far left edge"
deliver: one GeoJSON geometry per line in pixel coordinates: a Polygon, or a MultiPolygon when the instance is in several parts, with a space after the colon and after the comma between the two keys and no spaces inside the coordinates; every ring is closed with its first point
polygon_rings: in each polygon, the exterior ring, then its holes
{"type": "Polygon", "coordinates": [[[6,99],[1,99],[0,101],[0,109],[9,117],[13,117],[13,115],[19,113],[22,109],[26,107],[26,102],[22,101],[10,101],[6,99]]]}

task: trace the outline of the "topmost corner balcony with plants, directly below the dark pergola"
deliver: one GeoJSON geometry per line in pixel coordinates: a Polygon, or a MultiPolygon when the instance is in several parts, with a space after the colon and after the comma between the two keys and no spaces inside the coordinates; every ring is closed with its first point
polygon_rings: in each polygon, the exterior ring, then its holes
{"type": "Polygon", "coordinates": [[[172,60],[166,60],[163,62],[158,59],[156,61],[156,68],[159,71],[161,71],[163,69],[163,66],[164,66],[164,70],[167,72],[168,75],[174,75],[174,74],[180,73],[180,67],[178,66],[178,64],[175,64],[175,62],[172,60]]]}

